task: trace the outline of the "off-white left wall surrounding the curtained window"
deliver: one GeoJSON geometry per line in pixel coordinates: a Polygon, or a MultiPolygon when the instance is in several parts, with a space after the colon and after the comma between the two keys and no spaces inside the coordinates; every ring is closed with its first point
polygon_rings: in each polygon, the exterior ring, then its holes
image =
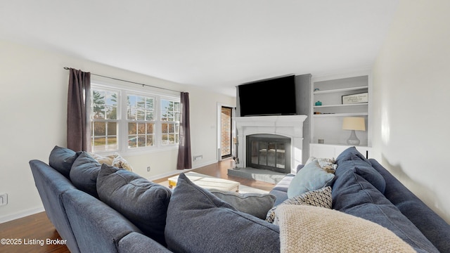
{"type": "MultiPolygon", "coordinates": [[[[66,145],[65,66],[189,92],[193,154],[203,155],[193,167],[217,161],[217,103],[234,104],[235,98],[0,40],[0,193],[8,193],[8,205],[0,207],[0,223],[42,210],[28,161],[48,162],[55,145],[66,145]]],[[[174,173],[177,152],[125,158],[136,172],[151,178],[174,173]]]]}

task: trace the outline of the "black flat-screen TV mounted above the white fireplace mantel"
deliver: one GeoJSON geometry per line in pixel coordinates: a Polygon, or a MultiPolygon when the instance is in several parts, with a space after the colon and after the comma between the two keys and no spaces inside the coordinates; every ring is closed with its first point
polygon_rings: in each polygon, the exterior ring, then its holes
{"type": "Polygon", "coordinates": [[[238,86],[240,117],[296,115],[295,76],[238,86]]]}

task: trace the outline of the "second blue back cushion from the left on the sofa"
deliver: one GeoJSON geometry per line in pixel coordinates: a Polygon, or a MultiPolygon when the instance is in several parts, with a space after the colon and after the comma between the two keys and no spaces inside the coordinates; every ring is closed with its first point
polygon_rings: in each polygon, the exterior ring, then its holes
{"type": "Polygon", "coordinates": [[[79,190],[89,193],[97,197],[97,176],[100,171],[101,164],[99,164],[88,153],[82,151],[72,164],[70,169],[70,181],[79,190]]]}

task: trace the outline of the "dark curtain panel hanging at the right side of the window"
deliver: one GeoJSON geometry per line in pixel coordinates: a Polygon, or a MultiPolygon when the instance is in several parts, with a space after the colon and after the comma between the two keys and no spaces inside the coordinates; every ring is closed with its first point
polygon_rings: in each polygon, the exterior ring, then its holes
{"type": "Polygon", "coordinates": [[[191,128],[189,125],[189,93],[181,92],[180,140],[176,169],[192,169],[191,128]]]}

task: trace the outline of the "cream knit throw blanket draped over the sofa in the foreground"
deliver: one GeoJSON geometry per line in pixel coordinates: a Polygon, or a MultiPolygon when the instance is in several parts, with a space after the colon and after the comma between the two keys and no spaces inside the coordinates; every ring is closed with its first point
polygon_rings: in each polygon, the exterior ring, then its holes
{"type": "Polygon", "coordinates": [[[416,252],[387,228],[333,209],[283,205],[275,212],[281,253],[416,252]]]}

